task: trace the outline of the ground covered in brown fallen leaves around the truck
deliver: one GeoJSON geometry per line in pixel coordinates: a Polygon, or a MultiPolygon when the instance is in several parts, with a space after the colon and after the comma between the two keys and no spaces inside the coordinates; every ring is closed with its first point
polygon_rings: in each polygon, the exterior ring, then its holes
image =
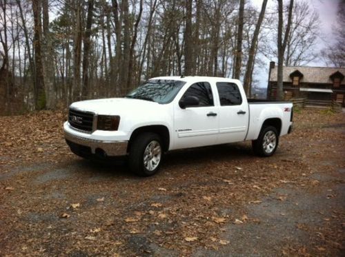
{"type": "Polygon", "coordinates": [[[150,178],[70,153],[64,119],[0,117],[0,256],[345,255],[344,113],[295,113],[270,158],[184,150],[150,178]]]}

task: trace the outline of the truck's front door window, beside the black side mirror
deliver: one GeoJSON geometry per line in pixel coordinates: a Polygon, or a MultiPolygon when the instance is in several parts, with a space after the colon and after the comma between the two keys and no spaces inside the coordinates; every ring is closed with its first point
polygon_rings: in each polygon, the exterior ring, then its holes
{"type": "Polygon", "coordinates": [[[190,85],[188,90],[182,96],[182,99],[186,96],[197,96],[199,99],[199,106],[213,106],[213,95],[211,86],[207,82],[198,82],[190,85]]]}

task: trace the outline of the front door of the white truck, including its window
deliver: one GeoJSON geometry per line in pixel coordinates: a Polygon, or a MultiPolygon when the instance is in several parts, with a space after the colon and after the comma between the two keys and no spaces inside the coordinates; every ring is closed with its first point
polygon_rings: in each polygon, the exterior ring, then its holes
{"type": "Polygon", "coordinates": [[[179,100],[186,96],[196,96],[199,105],[182,109],[178,101],[175,104],[174,149],[215,145],[219,116],[210,83],[193,83],[179,100]]]}

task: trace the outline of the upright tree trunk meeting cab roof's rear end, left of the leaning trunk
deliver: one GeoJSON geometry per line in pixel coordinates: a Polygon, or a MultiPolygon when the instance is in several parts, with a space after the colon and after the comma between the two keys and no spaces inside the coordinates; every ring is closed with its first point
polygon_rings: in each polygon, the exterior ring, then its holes
{"type": "Polygon", "coordinates": [[[243,24],[244,24],[244,1],[245,0],[239,0],[239,15],[238,15],[238,27],[237,27],[237,43],[236,43],[236,59],[235,59],[234,79],[239,79],[239,76],[241,76],[242,39],[243,39],[243,24]]]}

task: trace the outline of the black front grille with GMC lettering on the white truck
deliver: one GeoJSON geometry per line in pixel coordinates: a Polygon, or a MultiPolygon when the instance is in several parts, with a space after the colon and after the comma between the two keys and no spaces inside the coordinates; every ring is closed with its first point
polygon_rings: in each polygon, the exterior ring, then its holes
{"type": "Polygon", "coordinates": [[[77,130],[92,132],[93,114],[92,112],[82,112],[70,109],[68,122],[77,130]]]}

